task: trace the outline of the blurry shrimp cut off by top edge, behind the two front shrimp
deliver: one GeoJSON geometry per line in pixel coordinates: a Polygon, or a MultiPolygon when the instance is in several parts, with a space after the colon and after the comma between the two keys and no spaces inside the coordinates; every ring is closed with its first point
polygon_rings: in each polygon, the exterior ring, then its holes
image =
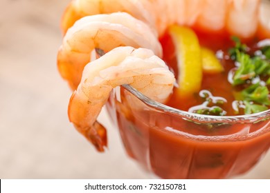
{"type": "Polygon", "coordinates": [[[63,14],[61,28],[65,34],[82,17],[113,12],[127,12],[147,25],[154,25],[154,15],[149,10],[150,7],[145,9],[141,1],[136,0],[73,0],[63,14]]]}

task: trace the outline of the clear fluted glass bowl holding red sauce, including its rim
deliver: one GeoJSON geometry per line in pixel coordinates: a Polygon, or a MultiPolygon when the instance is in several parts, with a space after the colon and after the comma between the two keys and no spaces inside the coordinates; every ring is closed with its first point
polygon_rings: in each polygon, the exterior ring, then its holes
{"type": "Polygon", "coordinates": [[[193,114],[152,101],[129,85],[111,94],[107,110],[127,154],[162,179],[228,179],[249,171],[270,147],[270,110],[193,114]]]}

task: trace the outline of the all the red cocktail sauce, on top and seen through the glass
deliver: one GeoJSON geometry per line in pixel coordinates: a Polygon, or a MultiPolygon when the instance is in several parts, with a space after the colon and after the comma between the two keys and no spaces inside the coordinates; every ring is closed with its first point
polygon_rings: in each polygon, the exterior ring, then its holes
{"type": "MultiPolygon", "coordinates": [[[[232,46],[232,41],[222,34],[197,34],[201,45],[215,52],[223,50],[226,55],[232,46]]],[[[165,35],[161,43],[165,62],[177,74],[170,37],[165,35]]],[[[204,74],[201,89],[224,97],[228,103],[223,108],[227,115],[233,115],[233,88],[227,76],[234,64],[225,57],[221,62],[224,72],[204,74]]],[[[187,111],[202,102],[196,94],[183,101],[172,94],[167,105],[187,111]]],[[[117,120],[127,154],[162,179],[231,178],[249,171],[270,146],[269,119],[228,123],[193,120],[151,107],[123,88],[120,96],[111,94],[107,109],[117,120]]]]}

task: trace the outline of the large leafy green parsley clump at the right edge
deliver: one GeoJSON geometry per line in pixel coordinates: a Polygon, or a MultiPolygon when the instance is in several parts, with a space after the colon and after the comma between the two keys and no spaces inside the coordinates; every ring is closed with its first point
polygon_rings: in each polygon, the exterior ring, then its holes
{"type": "Polygon", "coordinates": [[[249,85],[237,94],[241,96],[244,103],[244,113],[251,114],[262,112],[270,105],[269,89],[270,85],[270,46],[260,48],[262,54],[251,56],[247,54],[247,46],[240,42],[240,39],[233,37],[235,47],[229,50],[231,59],[235,61],[238,68],[233,75],[233,86],[249,85]],[[266,81],[260,81],[267,79],[266,81]],[[259,81],[254,81],[258,79],[259,81]]]}

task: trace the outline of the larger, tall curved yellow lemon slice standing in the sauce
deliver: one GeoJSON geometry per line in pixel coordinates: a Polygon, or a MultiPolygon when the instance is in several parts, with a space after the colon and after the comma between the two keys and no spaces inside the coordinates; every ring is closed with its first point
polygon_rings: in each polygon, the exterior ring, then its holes
{"type": "Polygon", "coordinates": [[[201,88],[203,70],[199,40],[193,30],[183,26],[172,25],[168,28],[168,33],[177,56],[177,94],[181,98],[187,98],[201,88]]]}

